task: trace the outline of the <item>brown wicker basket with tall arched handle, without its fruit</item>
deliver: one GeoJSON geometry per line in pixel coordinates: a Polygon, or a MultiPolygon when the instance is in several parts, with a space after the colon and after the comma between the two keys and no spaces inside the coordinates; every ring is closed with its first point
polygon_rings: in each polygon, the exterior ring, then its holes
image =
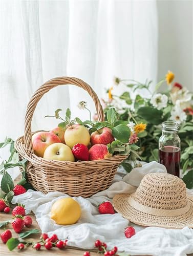
{"type": "Polygon", "coordinates": [[[74,77],[57,77],[44,83],[32,96],[27,106],[24,136],[18,138],[14,146],[20,158],[28,160],[26,173],[29,183],[35,189],[45,194],[60,191],[70,196],[86,198],[111,185],[119,164],[127,156],[116,155],[103,160],[70,162],[46,160],[34,154],[31,121],[36,105],[45,93],[62,84],[74,84],[87,91],[94,100],[99,121],[103,121],[102,106],[89,84],[74,77]]]}

